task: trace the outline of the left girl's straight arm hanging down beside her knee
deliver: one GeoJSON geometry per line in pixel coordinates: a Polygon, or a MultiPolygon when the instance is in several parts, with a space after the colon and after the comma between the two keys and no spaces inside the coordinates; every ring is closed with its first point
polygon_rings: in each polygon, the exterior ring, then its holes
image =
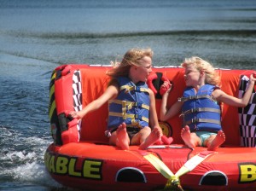
{"type": "Polygon", "coordinates": [[[154,92],[149,89],[149,98],[150,98],[150,105],[149,105],[149,119],[150,119],[150,126],[153,128],[158,128],[160,130],[160,135],[163,135],[162,129],[158,123],[156,108],[155,108],[155,99],[154,99],[154,92]]]}

